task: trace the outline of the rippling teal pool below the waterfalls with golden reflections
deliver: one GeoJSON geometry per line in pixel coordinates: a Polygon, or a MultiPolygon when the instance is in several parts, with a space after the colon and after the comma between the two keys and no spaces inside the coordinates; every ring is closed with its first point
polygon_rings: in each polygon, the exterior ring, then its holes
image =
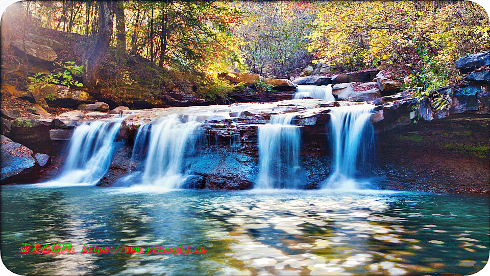
{"type": "Polygon", "coordinates": [[[471,274],[489,254],[487,195],[29,185],[1,191],[2,260],[18,274],[471,274]],[[23,255],[24,243],[71,243],[76,253],[23,255]],[[207,250],[95,255],[81,254],[84,244],[207,250]]]}

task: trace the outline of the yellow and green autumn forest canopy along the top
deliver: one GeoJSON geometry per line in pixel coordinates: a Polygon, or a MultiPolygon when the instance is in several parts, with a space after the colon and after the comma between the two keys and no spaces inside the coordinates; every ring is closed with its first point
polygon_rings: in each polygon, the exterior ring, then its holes
{"type": "Polygon", "coordinates": [[[85,76],[92,85],[114,77],[160,89],[155,79],[168,77],[161,72],[178,71],[212,86],[219,72],[290,78],[318,63],[326,74],[393,62],[419,72],[426,66],[420,51],[449,81],[457,58],[489,49],[488,15],[469,1],[24,1],[6,15],[17,20],[17,35],[79,35],[73,61],[95,72],[102,63],[117,75],[85,76]],[[108,49],[90,49],[101,41],[108,49]],[[153,65],[135,73],[128,69],[134,57],[153,65]]]}

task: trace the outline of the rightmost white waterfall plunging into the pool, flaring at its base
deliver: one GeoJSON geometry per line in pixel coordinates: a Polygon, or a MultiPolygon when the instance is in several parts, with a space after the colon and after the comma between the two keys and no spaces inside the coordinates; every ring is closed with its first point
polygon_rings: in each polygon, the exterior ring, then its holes
{"type": "Polygon", "coordinates": [[[362,167],[369,164],[374,149],[371,124],[373,104],[359,104],[330,109],[330,149],[334,172],[325,182],[326,189],[358,189],[362,167]]]}

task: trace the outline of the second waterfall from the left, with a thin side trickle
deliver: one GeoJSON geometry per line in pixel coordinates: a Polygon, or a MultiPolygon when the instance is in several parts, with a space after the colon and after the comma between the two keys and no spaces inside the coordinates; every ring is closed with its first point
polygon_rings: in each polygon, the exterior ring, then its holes
{"type": "Polygon", "coordinates": [[[150,132],[150,125],[140,127],[132,158],[144,158],[143,171],[138,176],[143,185],[180,188],[186,178],[186,157],[194,152],[198,140],[201,123],[195,119],[189,116],[188,121],[183,123],[177,114],[172,114],[152,124],[150,132]]]}

